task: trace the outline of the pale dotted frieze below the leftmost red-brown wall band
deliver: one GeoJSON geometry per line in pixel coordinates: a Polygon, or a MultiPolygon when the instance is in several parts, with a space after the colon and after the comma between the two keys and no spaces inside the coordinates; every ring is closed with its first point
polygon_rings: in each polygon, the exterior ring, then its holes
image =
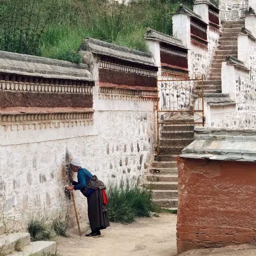
{"type": "Polygon", "coordinates": [[[26,128],[58,128],[93,124],[93,112],[45,113],[45,114],[0,114],[0,126],[4,130],[26,128]]]}

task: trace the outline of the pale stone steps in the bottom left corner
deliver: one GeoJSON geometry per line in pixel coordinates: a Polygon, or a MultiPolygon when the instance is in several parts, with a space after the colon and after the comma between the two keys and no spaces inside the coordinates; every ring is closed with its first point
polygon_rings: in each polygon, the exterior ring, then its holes
{"type": "Polygon", "coordinates": [[[29,233],[4,234],[4,227],[0,225],[0,255],[1,256],[30,256],[43,252],[54,252],[56,242],[30,242],[29,233]],[[19,248],[19,251],[17,249],[19,248]]]}

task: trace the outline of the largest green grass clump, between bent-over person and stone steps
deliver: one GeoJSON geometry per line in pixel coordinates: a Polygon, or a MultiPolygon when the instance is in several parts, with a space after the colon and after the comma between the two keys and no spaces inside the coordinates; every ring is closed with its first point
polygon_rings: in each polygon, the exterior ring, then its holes
{"type": "Polygon", "coordinates": [[[111,182],[107,193],[110,221],[131,223],[136,217],[150,217],[153,208],[152,193],[137,182],[111,182]]]}

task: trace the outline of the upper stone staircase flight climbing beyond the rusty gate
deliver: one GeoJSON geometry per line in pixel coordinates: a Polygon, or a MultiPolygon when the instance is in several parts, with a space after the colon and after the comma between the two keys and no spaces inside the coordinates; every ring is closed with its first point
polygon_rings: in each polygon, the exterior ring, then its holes
{"type": "Polygon", "coordinates": [[[209,74],[204,81],[205,93],[221,93],[221,66],[225,61],[226,55],[234,56],[237,58],[238,45],[237,38],[244,26],[244,20],[225,21],[222,22],[222,33],[219,40],[218,49],[212,59],[209,74]]]}

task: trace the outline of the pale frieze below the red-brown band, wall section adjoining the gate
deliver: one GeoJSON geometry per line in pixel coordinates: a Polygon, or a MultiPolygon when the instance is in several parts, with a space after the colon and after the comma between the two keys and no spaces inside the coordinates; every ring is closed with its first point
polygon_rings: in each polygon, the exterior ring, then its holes
{"type": "Polygon", "coordinates": [[[100,87],[99,98],[109,100],[156,101],[156,91],[100,87]]]}

